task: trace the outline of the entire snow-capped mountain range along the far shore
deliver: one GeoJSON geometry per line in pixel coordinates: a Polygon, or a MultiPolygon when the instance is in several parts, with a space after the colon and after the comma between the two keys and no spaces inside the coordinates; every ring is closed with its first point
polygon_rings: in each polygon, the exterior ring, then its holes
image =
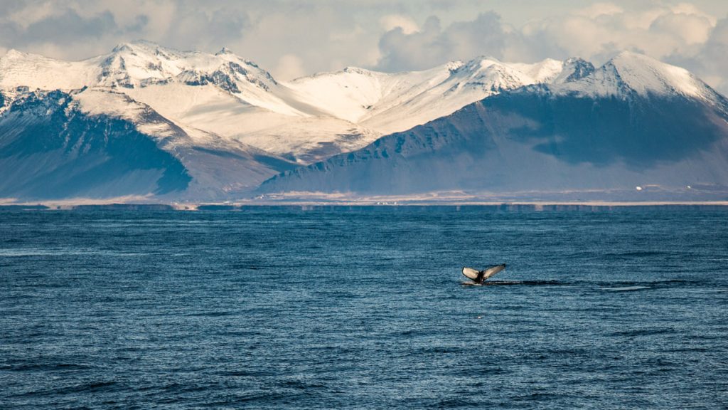
{"type": "Polygon", "coordinates": [[[11,50],[0,198],[726,198],[727,120],[726,98],[636,53],[280,82],[226,49],[131,42],[72,62],[11,50]]]}

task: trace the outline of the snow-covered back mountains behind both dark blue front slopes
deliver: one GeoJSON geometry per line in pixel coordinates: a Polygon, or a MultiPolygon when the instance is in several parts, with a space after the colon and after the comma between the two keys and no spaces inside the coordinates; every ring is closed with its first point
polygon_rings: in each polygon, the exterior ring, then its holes
{"type": "Polygon", "coordinates": [[[562,67],[553,60],[508,64],[476,58],[426,71],[347,68],[277,82],[226,49],[212,55],[138,41],[77,62],[11,50],[0,58],[0,88],[111,88],[177,125],[305,164],[356,150],[501,90],[550,82],[562,67]]]}

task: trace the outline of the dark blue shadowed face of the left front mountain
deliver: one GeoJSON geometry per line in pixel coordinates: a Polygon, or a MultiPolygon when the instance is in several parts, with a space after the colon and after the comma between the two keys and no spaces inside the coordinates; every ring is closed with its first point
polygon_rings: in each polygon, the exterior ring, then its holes
{"type": "Polygon", "coordinates": [[[123,120],[87,117],[55,91],[15,101],[0,121],[0,196],[165,194],[190,177],[173,155],[123,120]]]}

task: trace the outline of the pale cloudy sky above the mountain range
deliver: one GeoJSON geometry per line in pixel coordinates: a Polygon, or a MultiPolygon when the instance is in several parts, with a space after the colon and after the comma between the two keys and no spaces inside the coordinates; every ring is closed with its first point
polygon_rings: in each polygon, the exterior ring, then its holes
{"type": "Polygon", "coordinates": [[[80,60],[146,39],[179,50],[228,47],[290,80],[480,55],[601,64],[631,50],[728,93],[725,0],[0,0],[0,10],[0,55],[15,48],[80,60]]]}

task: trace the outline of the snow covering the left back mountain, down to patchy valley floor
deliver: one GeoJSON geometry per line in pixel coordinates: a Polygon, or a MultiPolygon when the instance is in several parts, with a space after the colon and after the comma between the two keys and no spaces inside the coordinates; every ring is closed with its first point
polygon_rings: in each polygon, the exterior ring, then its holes
{"type": "MultiPolygon", "coordinates": [[[[276,82],[267,71],[226,49],[212,55],[140,41],[78,62],[11,51],[0,58],[0,88],[12,94],[17,87],[66,91],[108,88],[153,107],[177,125],[224,136],[233,145],[245,143],[245,137],[253,133],[267,131],[275,144],[266,146],[274,149],[274,155],[320,159],[309,158],[306,152],[292,152],[285,131],[277,130],[275,125],[288,126],[301,119],[320,117],[323,112],[297,101],[293,91],[276,82]]],[[[352,128],[356,128],[346,120],[334,120],[338,126],[328,134],[316,134],[316,142],[333,145],[331,155],[341,152],[336,149],[337,140],[348,139],[352,128]]],[[[310,124],[307,134],[315,134],[314,123],[304,124],[310,124]]],[[[372,133],[363,130],[362,134],[372,133]]]]}

